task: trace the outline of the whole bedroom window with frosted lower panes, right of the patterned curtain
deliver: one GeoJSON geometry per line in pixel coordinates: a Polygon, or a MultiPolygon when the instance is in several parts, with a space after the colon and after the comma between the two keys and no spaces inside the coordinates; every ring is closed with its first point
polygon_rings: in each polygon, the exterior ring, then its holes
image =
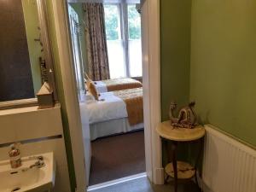
{"type": "Polygon", "coordinates": [[[104,4],[110,78],[142,76],[141,17],[135,4],[104,4]]]}

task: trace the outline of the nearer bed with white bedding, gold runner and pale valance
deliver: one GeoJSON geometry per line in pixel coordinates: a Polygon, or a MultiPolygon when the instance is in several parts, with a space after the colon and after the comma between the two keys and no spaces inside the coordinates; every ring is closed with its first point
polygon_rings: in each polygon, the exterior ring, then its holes
{"type": "Polygon", "coordinates": [[[101,93],[100,101],[88,99],[90,140],[143,129],[143,89],[101,93]]]}

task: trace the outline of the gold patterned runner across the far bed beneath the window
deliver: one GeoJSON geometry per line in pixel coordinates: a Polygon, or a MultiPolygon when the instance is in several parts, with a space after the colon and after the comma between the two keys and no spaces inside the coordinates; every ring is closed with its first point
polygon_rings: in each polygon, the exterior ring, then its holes
{"type": "Polygon", "coordinates": [[[143,84],[135,79],[125,78],[125,79],[108,79],[102,80],[106,84],[108,91],[114,90],[128,90],[133,88],[142,87],[143,84]]]}

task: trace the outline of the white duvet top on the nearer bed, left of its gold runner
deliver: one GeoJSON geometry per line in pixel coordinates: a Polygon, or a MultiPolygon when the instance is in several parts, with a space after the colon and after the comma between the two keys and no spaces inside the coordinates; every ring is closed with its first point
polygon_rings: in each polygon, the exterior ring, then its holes
{"type": "Polygon", "coordinates": [[[84,105],[88,109],[90,124],[128,117],[125,102],[113,92],[101,93],[100,99],[104,101],[90,100],[84,105]]]}

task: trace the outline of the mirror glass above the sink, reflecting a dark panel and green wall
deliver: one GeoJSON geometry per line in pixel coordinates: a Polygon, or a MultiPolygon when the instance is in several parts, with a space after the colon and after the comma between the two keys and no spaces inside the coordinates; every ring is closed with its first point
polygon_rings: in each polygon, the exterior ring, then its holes
{"type": "Polygon", "coordinates": [[[0,1],[0,102],[34,98],[47,80],[36,0],[0,1]]]}

